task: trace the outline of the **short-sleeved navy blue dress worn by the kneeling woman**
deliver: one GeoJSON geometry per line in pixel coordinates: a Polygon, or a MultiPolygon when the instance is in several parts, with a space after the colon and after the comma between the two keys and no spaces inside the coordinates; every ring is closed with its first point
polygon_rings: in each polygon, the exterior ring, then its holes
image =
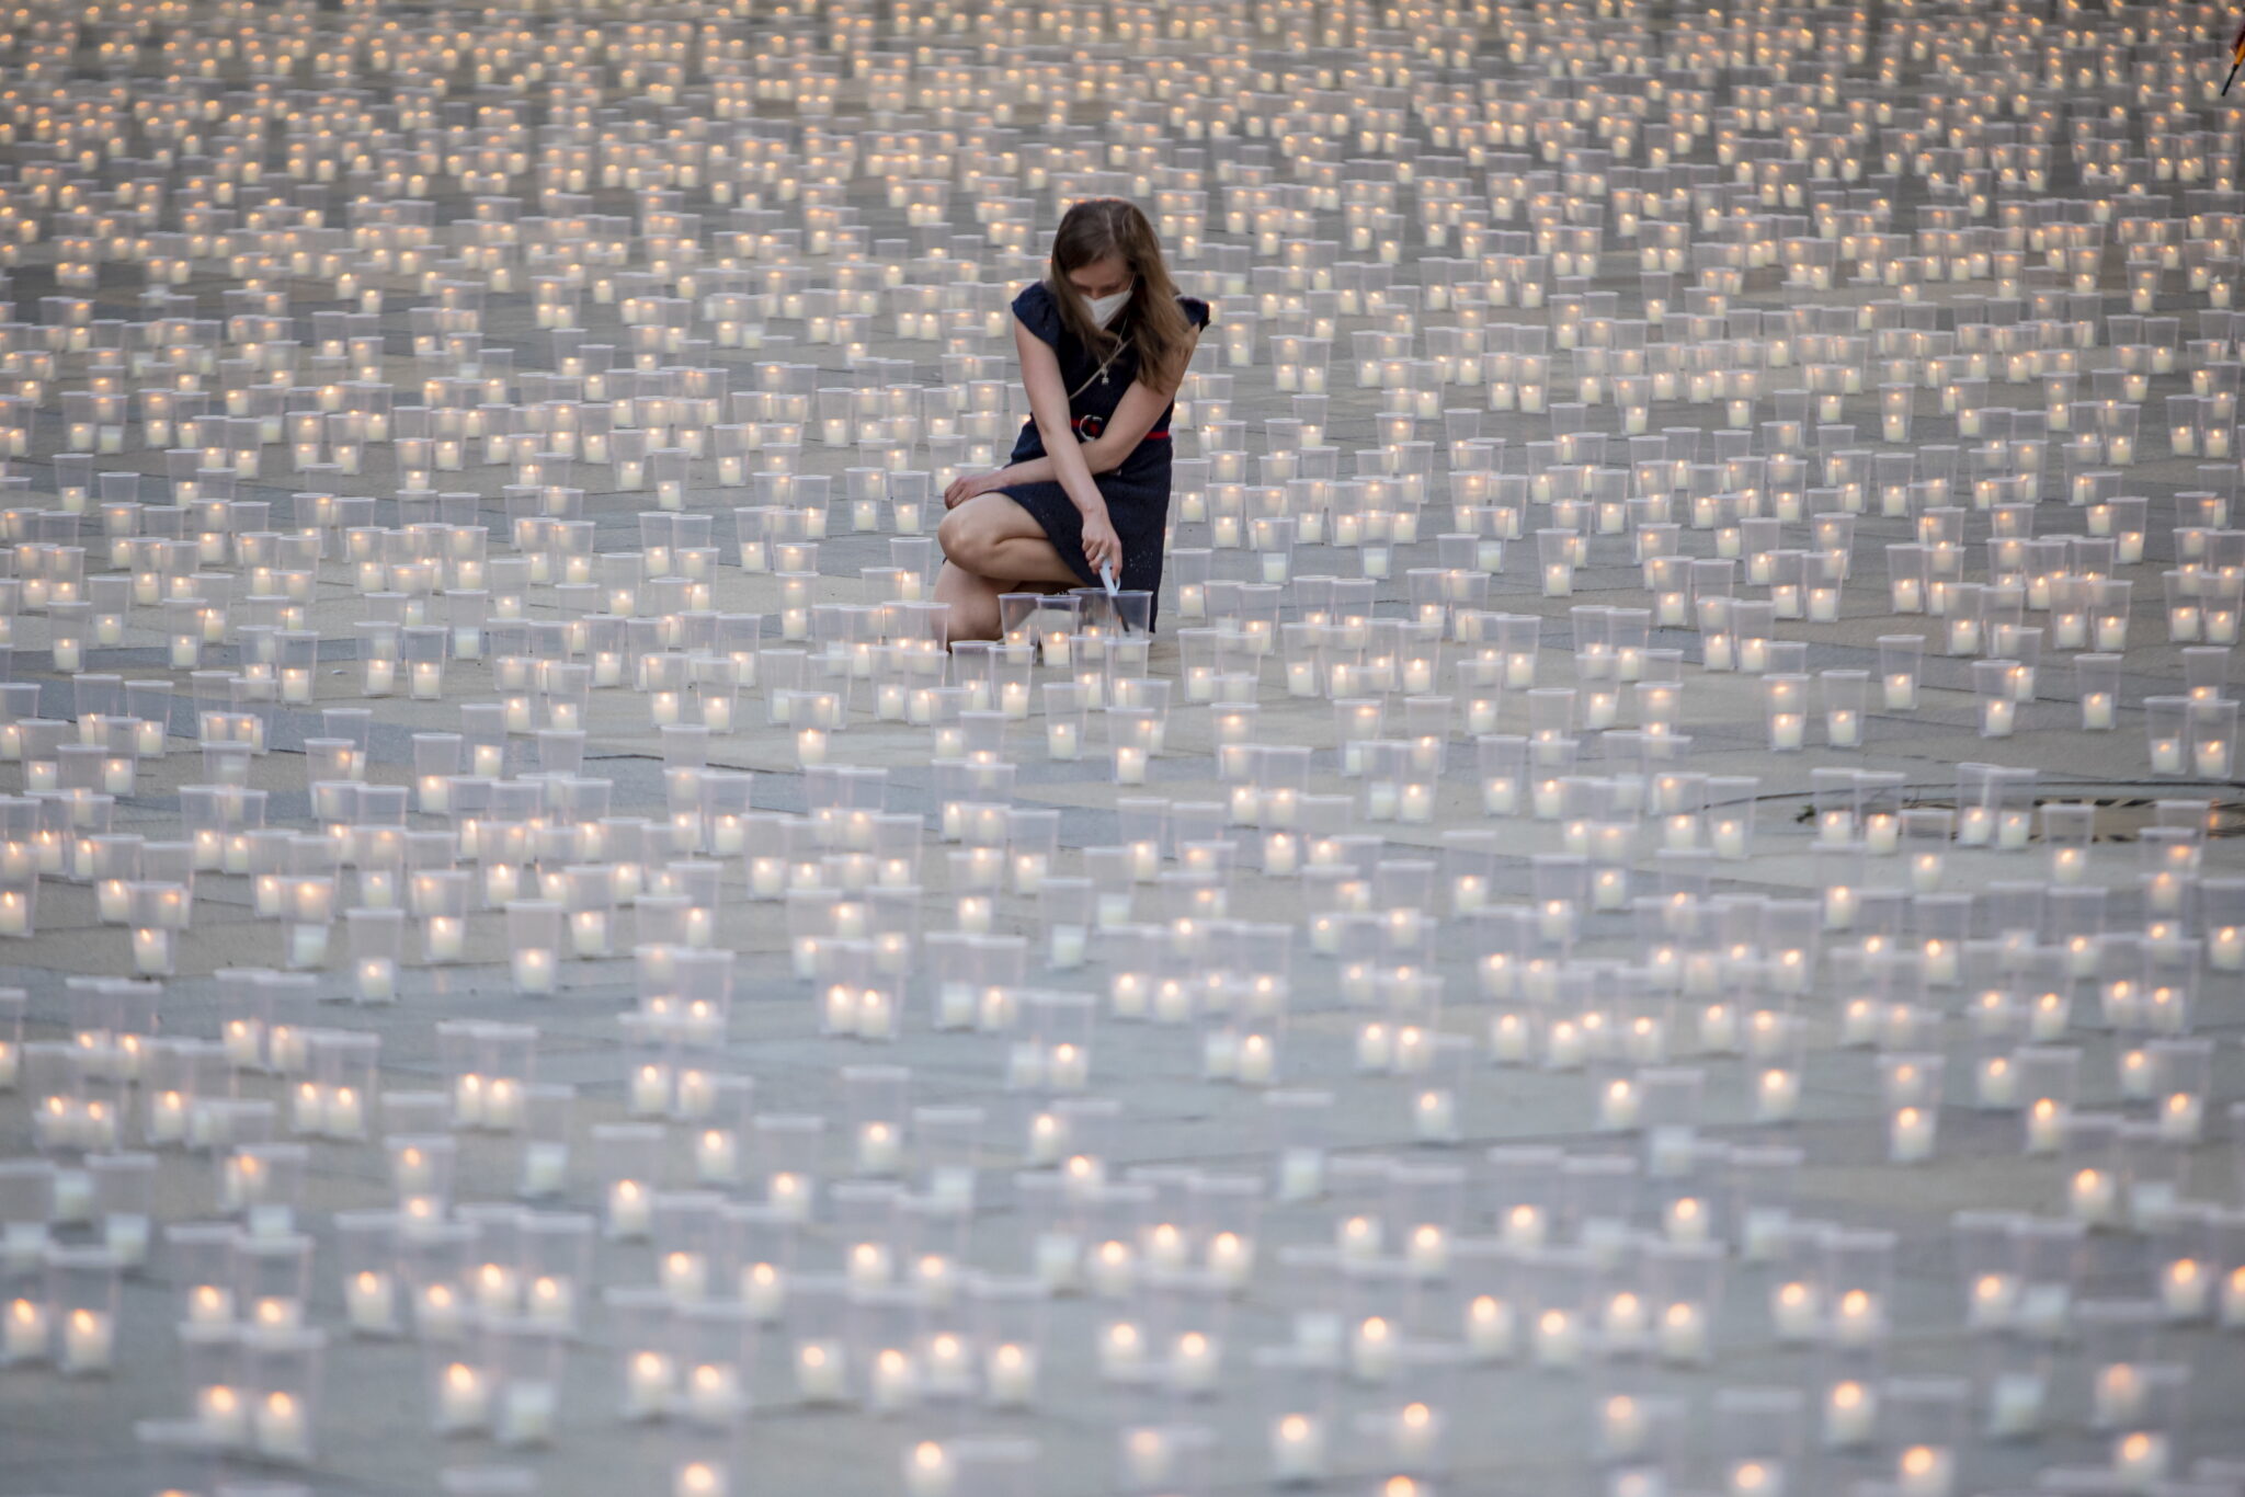
{"type": "MultiPolygon", "coordinates": [[[[1176,305],[1185,310],[1194,328],[1208,325],[1206,301],[1179,296],[1176,305]]],[[[1012,314],[1030,334],[1051,343],[1060,357],[1060,386],[1075,391],[1075,397],[1069,399],[1069,424],[1075,426],[1075,440],[1093,440],[1107,429],[1116,406],[1122,404],[1122,393],[1138,377],[1138,350],[1125,343],[1107,366],[1105,377],[1096,377],[1100,368],[1098,357],[1060,321],[1053,292],[1042,281],[1012,299],[1012,314]],[[1082,388],[1078,391],[1078,386],[1082,388]]],[[[1127,325],[1118,325],[1118,332],[1125,339],[1129,337],[1127,325]]],[[[1093,483],[1100,485],[1100,494],[1107,498],[1107,518],[1122,541],[1122,577],[1118,586],[1149,593],[1156,597],[1156,604],[1161,595],[1161,541],[1170,521],[1170,411],[1174,408],[1172,404],[1154,420],[1138,447],[1122,458],[1120,467],[1093,474],[1093,483]]],[[[1037,433],[1035,417],[1030,417],[1021,426],[1008,462],[1033,462],[1042,456],[1046,456],[1044,438],[1037,433]]],[[[1075,500],[1069,498],[1066,489],[1057,483],[1017,483],[997,492],[1008,494],[1012,503],[1028,509],[1044,527],[1053,550],[1060,552],[1071,572],[1082,577],[1087,588],[1102,586],[1098,572],[1084,561],[1084,516],[1078,514],[1075,500]]]]}

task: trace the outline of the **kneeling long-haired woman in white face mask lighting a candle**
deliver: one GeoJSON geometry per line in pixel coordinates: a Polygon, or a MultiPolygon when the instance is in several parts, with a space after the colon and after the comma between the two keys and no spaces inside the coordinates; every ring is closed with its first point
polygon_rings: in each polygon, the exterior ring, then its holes
{"type": "Polygon", "coordinates": [[[1208,303],[1176,294],[1145,213],[1102,198],[1066,211],[1012,316],[1030,420],[1008,467],[943,492],[952,640],[995,640],[999,593],[1096,588],[1107,570],[1161,590],[1170,406],[1208,303]]]}

